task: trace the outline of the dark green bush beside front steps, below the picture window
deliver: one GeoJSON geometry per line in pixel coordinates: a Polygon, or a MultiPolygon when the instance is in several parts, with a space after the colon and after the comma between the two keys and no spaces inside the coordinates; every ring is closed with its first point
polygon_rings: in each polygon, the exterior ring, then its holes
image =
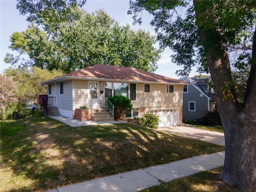
{"type": "Polygon", "coordinates": [[[119,119],[126,110],[132,110],[132,103],[128,97],[113,96],[108,100],[114,105],[114,118],[119,119]]]}

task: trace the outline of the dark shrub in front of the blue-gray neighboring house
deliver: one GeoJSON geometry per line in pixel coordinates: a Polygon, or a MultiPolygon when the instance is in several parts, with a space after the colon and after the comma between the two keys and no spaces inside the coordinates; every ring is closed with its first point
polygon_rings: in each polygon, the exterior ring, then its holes
{"type": "Polygon", "coordinates": [[[207,126],[222,126],[220,114],[217,111],[207,111],[205,115],[202,115],[200,122],[207,126]]]}

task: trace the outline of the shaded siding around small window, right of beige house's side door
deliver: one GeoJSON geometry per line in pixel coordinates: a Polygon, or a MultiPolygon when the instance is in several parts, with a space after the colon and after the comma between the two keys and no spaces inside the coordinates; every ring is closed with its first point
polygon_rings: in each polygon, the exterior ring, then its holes
{"type": "Polygon", "coordinates": [[[63,94],[60,94],[60,83],[57,84],[57,106],[60,109],[72,110],[72,80],[63,82],[63,94]]]}

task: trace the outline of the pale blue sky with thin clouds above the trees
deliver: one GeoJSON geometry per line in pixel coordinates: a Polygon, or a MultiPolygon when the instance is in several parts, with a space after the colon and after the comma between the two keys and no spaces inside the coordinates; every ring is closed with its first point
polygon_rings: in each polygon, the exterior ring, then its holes
{"type": "MultiPolygon", "coordinates": [[[[95,10],[103,9],[110,17],[119,22],[120,25],[126,25],[128,23],[133,30],[142,29],[155,34],[154,27],[150,26],[152,16],[146,11],[144,11],[142,15],[142,24],[132,25],[132,15],[127,14],[129,9],[129,0],[87,0],[83,9],[87,12],[95,12],[95,10]]],[[[19,11],[16,9],[16,0],[0,0],[1,72],[10,67],[10,64],[6,64],[4,62],[6,53],[17,55],[16,51],[12,51],[8,48],[8,46],[10,46],[10,36],[13,32],[21,32],[26,30],[27,26],[28,22],[26,21],[26,16],[20,15],[19,11]]],[[[158,44],[155,46],[158,48],[158,44]]],[[[171,54],[172,51],[168,48],[162,52],[161,58],[157,62],[158,69],[155,73],[176,79],[181,78],[175,74],[176,70],[178,70],[180,66],[177,66],[171,62],[171,54]]],[[[196,74],[196,68],[193,68],[192,72],[190,73],[190,77],[196,74]]]]}

